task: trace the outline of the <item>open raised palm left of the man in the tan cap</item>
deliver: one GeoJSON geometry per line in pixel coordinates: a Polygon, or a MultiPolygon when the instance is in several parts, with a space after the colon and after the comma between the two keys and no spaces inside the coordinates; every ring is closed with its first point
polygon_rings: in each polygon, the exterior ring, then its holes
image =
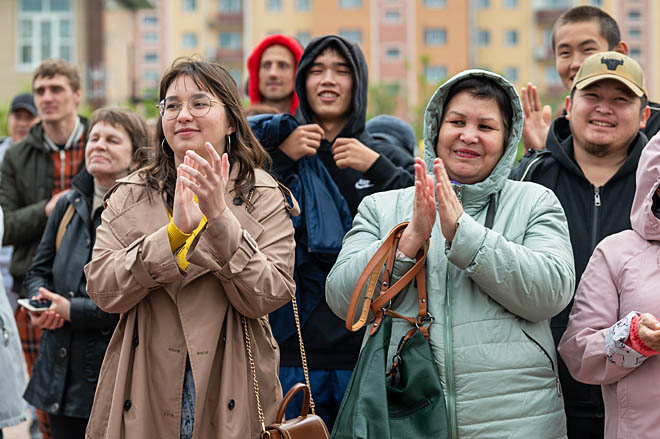
{"type": "Polygon", "coordinates": [[[541,98],[536,86],[531,82],[522,90],[522,106],[525,113],[523,124],[523,148],[525,153],[530,149],[545,149],[545,142],[552,122],[550,105],[541,108],[541,98]]]}

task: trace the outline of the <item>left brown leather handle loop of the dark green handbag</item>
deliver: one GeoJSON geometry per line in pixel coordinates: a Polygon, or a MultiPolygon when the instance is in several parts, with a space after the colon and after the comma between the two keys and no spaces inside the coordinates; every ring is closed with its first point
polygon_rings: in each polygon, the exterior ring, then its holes
{"type": "Polygon", "coordinates": [[[392,229],[392,231],[390,231],[362,271],[362,274],[353,289],[353,296],[351,297],[351,302],[348,305],[348,313],[346,314],[346,329],[349,331],[358,331],[367,322],[371,301],[373,300],[374,292],[376,291],[376,282],[380,276],[383,264],[387,261],[390,254],[394,253],[396,249],[395,242],[398,242],[407,225],[407,222],[398,224],[392,229]],[[367,286],[367,292],[364,296],[360,317],[357,322],[353,323],[355,319],[355,311],[360,302],[360,298],[362,297],[362,291],[364,290],[365,285],[367,286]]]}

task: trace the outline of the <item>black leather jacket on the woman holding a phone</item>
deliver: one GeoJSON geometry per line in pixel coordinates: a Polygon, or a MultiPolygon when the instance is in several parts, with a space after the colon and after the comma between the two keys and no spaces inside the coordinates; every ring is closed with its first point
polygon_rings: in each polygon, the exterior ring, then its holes
{"type": "Polygon", "coordinates": [[[69,299],[71,321],[43,331],[24,398],[49,413],[76,418],[89,417],[103,356],[119,321],[117,314],[101,311],[87,295],[83,267],[91,260],[101,223],[101,209],[93,220],[90,217],[93,193],[92,176],[83,169],[74,177],[72,190],[55,205],[25,279],[28,297],[43,286],[69,299]],[[75,213],[56,252],[55,236],[70,204],[75,213]]]}

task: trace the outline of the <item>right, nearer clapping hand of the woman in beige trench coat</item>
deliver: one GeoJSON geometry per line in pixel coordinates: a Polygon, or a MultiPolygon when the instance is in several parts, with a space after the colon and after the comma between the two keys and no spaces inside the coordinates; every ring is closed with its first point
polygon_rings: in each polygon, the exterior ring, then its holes
{"type": "Polygon", "coordinates": [[[225,193],[229,182],[229,157],[227,153],[221,157],[210,142],[206,142],[204,147],[211,157],[211,163],[196,152],[188,150],[185,158],[192,162],[192,166],[184,159],[179,168],[183,169],[186,175],[179,178],[182,184],[197,196],[199,210],[212,222],[227,208],[225,193]]]}

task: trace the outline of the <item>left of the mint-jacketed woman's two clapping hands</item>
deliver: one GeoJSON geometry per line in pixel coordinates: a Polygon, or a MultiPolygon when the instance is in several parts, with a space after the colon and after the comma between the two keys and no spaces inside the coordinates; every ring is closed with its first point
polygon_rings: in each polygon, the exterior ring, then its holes
{"type": "Polygon", "coordinates": [[[426,174],[426,165],[415,157],[415,200],[410,224],[403,231],[399,250],[409,258],[414,258],[424,242],[431,236],[435,224],[435,190],[433,177],[426,174]]]}

